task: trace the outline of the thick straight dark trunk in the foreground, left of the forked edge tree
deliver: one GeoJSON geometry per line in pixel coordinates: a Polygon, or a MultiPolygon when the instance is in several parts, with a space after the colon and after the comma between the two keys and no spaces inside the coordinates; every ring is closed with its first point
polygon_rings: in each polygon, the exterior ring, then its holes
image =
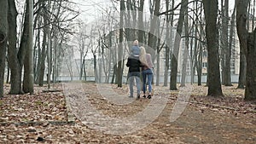
{"type": "Polygon", "coordinates": [[[208,73],[208,95],[223,96],[218,60],[218,38],[217,38],[217,14],[218,0],[203,0],[206,17],[206,35],[207,35],[207,73],[208,73]]]}

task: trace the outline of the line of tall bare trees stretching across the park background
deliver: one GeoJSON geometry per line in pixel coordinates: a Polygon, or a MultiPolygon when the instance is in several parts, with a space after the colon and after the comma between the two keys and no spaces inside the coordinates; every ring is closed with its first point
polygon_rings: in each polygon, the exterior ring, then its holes
{"type": "Polygon", "coordinates": [[[5,61],[8,61],[10,72],[9,94],[32,93],[33,83],[43,85],[45,72],[48,84],[56,82],[60,65],[64,62],[72,76],[71,63],[61,58],[73,53],[73,46],[68,43],[73,37],[79,51],[80,79],[86,78],[85,60],[91,53],[96,82],[111,81],[122,87],[125,56],[129,53],[131,42],[138,39],[156,61],[156,85],[160,84],[160,54],[164,54],[164,86],[169,81],[170,89],[175,90],[177,60],[183,41],[181,86],[185,86],[188,63],[191,83],[194,83],[197,73],[197,83],[201,85],[203,54],[206,51],[208,95],[223,96],[221,85],[232,85],[230,60],[239,56],[238,88],[245,88],[246,100],[256,99],[255,0],[236,0],[234,8],[230,8],[230,0],[111,0],[111,7],[96,9],[100,16],[95,26],[88,26],[86,20],[78,19],[79,11],[72,8],[76,4],[74,2],[33,2],[26,0],[24,3],[21,22],[17,21],[18,2],[1,2],[1,96],[5,61]],[[20,32],[17,30],[18,23],[20,32]],[[236,33],[239,55],[234,53],[236,33]],[[102,73],[106,76],[105,81],[100,77],[102,73]]]}

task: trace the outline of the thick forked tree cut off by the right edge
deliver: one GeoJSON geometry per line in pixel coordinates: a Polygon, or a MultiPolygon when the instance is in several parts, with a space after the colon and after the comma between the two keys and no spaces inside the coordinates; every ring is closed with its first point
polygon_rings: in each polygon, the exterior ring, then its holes
{"type": "Polygon", "coordinates": [[[246,89],[245,100],[256,100],[256,31],[247,32],[247,6],[249,0],[236,1],[236,29],[240,41],[241,50],[246,55],[247,72],[246,72],[246,89]]]}

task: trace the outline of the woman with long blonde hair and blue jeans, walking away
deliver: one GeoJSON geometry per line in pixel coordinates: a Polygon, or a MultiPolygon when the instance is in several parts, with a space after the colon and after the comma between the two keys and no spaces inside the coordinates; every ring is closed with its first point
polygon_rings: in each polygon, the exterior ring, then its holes
{"type": "Polygon", "coordinates": [[[153,64],[151,55],[146,53],[144,47],[141,47],[140,61],[142,62],[143,70],[143,97],[146,98],[147,84],[146,80],[148,78],[148,99],[152,96],[152,79],[153,79],[153,64]]]}

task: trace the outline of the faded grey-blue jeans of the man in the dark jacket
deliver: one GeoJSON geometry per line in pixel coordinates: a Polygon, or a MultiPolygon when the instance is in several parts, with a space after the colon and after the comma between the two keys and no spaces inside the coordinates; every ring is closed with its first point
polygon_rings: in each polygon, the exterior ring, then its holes
{"type": "Polygon", "coordinates": [[[137,95],[139,95],[141,92],[140,72],[129,72],[128,83],[129,83],[129,89],[130,89],[130,96],[133,96],[134,79],[136,80],[137,95]]]}

